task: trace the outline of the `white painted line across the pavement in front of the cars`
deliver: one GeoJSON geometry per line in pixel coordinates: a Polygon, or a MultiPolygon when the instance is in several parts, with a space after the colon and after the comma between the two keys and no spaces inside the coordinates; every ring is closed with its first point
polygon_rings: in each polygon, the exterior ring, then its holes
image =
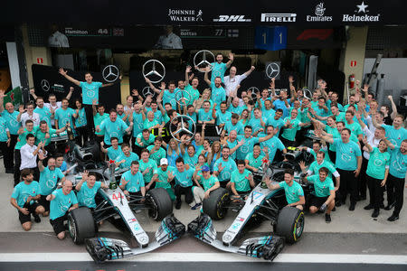
{"type": "MultiPolygon", "coordinates": [[[[128,257],[131,262],[261,262],[261,259],[231,253],[147,253],[128,257]]],[[[92,261],[88,253],[0,253],[0,262],[58,262],[92,261]]],[[[334,264],[402,264],[407,265],[404,255],[364,254],[289,254],[274,259],[277,263],[334,263],[334,264]]]]}

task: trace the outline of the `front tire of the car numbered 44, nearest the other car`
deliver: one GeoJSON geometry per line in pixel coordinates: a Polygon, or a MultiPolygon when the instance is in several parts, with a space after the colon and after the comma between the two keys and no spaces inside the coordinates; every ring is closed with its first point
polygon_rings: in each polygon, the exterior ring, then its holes
{"type": "Polygon", "coordinates": [[[163,220],[167,215],[173,213],[173,201],[166,189],[159,187],[146,193],[147,205],[151,207],[148,215],[156,221],[163,220]]]}

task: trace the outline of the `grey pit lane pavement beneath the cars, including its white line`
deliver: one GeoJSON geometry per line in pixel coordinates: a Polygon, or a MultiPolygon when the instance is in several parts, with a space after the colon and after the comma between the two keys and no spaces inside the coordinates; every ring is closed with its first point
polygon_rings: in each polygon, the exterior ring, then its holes
{"type": "MultiPolygon", "coordinates": [[[[0,168],[0,172],[4,169],[0,168]]],[[[0,271],[3,270],[407,270],[407,216],[404,210],[401,219],[388,222],[391,211],[382,210],[377,220],[370,211],[363,210],[366,201],[359,201],[356,210],[337,208],[332,213],[332,222],[325,223],[323,215],[306,214],[305,231],[300,241],[286,246],[270,263],[262,259],[232,255],[185,235],[175,242],[153,252],[129,257],[124,260],[96,265],[83,246],[74,245],[71,238],[55,238],[48,218],[34,223],[30,232],[21,229],[17,212],[9,203],[13,190],[11,174],[0,173],[0,271]]],[[[406,196],[404,194],[404,199],[406,196]]],[[[407,199],[406,201],[407,202],[407,199]]],[[[175,210],[175,217],[187,225],[198,216],[198,211],[189,210],[184,203],[175,210]]],[[[229,212],[221,221],[214,221],[218,238],[222,237],[237,214],[229,212]]],[[[137,220],[147,231],[150,239],[159,222],[150,220],[147,211],[137,213],[137,220]]],[[[246,238],[267,235],[270,223],[255,225],[246,238]]],[[[132,243],[132,238],[106,222],[99,229],[99,236],[119,238],[132,243]]]]}

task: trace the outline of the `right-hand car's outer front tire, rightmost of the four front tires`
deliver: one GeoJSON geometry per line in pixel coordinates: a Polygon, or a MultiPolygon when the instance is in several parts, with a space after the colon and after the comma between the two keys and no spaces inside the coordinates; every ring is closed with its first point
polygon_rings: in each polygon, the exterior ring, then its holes
{"type": "Polygon", "coordinates": [[[286,242],[294,244],[304,231],[304,211],[286,206],[279,211],[276,234],[284,237],[286,242]]]}

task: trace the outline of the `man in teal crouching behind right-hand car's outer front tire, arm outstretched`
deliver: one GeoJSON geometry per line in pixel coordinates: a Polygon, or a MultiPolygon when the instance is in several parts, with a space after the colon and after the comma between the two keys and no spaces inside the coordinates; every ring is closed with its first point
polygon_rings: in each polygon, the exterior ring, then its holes
{"type": "Polygon", "coordinates": [[[286,200],[289,203],[288,206],[304,210],[304,191],[301,185],[294,181],[294,170],[288,168],[284,171],[284,182],[272,183],[269,177],[266,177],[265,182],[270,190],[284,189],[286,200]]]}

